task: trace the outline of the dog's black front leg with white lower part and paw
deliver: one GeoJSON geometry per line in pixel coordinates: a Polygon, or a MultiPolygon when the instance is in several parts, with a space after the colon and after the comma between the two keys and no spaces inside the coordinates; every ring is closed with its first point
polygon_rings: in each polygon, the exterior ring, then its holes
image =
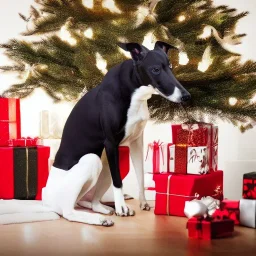
{"type": "Polygon", "coordinates": [[[115,211],[118,216],[134,216],[135,212],[129,209],[124,200],[122,190],[122,179],[119,170],[119,152],[118,145],[108,140],[105,141],[105,149],[107,153],[110,172],[113,180],[113,190],[115,199],[115,211]]]}

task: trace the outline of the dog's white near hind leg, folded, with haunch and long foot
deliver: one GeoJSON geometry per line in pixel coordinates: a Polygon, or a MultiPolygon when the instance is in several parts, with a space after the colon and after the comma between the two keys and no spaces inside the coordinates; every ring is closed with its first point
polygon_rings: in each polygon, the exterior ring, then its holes
{"type": "MultiPolygon", "coordinates": [[[[46,186],[45,191],[45,195],[50,197],[50,200],[48,200],[50,202],[49,206],[55,208],[57,213],[69,221],[112,226],[112,221],[99,214],[81,212],[74,209],[77,201],[96,184],[101,169],[100,158],[95,154],[87,154],[79,160],[78,164],[66,172],[65,177],[59,181],[60,184],[56,180],[55,187],[50,186],[51,181],[49,180],[47,182],[49,186],[46,186]]],[[[55,170],[53,169],[52,171],[55,170]]],[[[58,169],[58,171],[63,170],[58,169]]]]}

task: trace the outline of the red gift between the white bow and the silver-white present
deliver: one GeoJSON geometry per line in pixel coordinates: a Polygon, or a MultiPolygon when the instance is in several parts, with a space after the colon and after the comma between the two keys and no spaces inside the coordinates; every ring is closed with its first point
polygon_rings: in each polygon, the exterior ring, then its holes
{"type": "Polygon", "coordinates": [[[217,209],[213,217],[227,217],[234,221],[235,225],[240,224],[240,210],[239,210],[240,201],[232,201],[224,199],[220,204],[220,209],[217,209]]]}

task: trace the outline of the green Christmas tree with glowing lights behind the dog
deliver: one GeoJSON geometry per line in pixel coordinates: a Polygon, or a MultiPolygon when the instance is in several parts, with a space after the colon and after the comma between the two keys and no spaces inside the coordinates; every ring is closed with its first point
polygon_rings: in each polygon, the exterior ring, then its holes
{"type": "MultiPolygon", "coordinates": [[[[4,96],[22,98],[41,87],[56,101],[78,100],[130,57],[118,42],[152,49],[160,40],[179,49],[169,58],[192,95],[187,113],[198,121],[250,122],[256,65],[241,63],[233,51],[245,36],[235,33],[236,24],[246,15],[211,0],[35,0],[29,16],[20,14],[27,23],[23,39],[1,45],[14,63],[1,69],[23,76],[4,96]]],[[[155,120],[187,119],[183,106],[158,95],[149,107],[155,120]]]]}

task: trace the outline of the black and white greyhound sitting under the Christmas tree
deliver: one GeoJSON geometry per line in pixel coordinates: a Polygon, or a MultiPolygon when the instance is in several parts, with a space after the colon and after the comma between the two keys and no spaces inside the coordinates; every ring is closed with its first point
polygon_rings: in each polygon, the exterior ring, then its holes
{"type": "Polygon", "coordinates": [[[174,77],[167,57],[175,48],[156,42],[154,50],[137,43],[120,43],[131,53],[113,67],[102,83],[84,95],[72,110],[63,130],[60,148],[43,189],[43,203],[70,221],[112,226],[100,214],[75,210],[91,207],[94,212],[111,214],[114,209],[100,200],[113,182],[115,212],[133,216],[124,200],[118,164],[118,147],[130,147],[139,184],[142,210],[149,210],[144,194],[143,130],[149,119],[147,100],[157,92],[172,102],[185,102],[190,94],[174,77]],[[83,196],[96,186],[90,203],[83,196]]]}

